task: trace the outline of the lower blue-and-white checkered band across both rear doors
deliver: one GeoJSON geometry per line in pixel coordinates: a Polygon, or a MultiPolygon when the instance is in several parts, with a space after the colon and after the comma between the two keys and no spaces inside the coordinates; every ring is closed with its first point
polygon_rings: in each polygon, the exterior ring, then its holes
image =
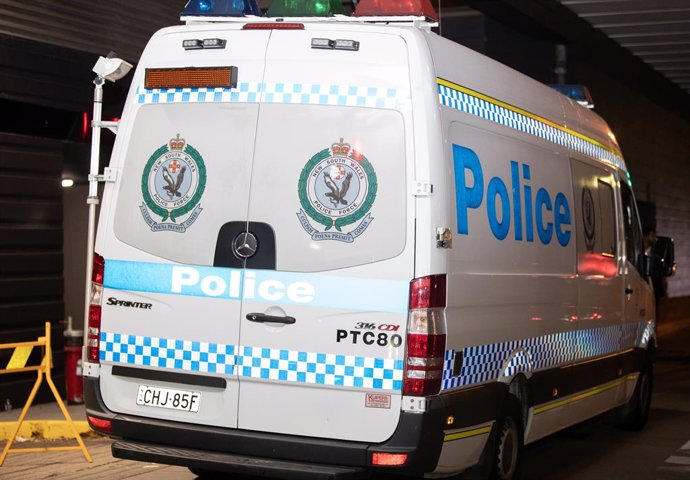
{"type": "Polygon", "coordinates": [[[404,363],[393,358],[237,347],[111,332],[101,332],[100,339],[103,362],[312,385],[402,389],[404,363]]]}

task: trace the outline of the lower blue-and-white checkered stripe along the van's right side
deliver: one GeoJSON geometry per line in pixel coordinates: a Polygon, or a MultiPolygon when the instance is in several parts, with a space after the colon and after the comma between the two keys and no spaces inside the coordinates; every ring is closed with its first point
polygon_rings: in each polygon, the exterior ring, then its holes
{"type": "Polygon", "coordinates": [[[650,327],[646,322],[639,322],[466,347],[462,351],[462,368],[457,376],[453,376],[457,353],[447,350],[443,389],[553,368],[634,346],[644,347],[653,328],[653,324],[650,327]]]}

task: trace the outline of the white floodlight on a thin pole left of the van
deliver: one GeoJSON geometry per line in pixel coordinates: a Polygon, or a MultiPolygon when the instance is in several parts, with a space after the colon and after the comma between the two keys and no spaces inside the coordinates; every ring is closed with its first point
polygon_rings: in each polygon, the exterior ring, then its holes
{"type": "MultiPolygon", "coordinates": [[[[89,206],[89,226],[86,241],[86,290],[84,298],[84,329],[88,328],[89,321],[89,302],[91,299],[91,275],[93,273],[93,252],[96,237],[96,206],[98,200],[98,182],[105,180],[103,175],[99,175],[100,170],[100,149],[101,149],[101,128],[108,128],[117,133],[118,122],[103,122],[101,120],[103,109],[103,84],[106,80],[116,82],[127,75],[132,69],[132,64],[118,58],[114,52],[110,52],[107,57],[99,57],[93,71],[96,78],[93,80],[93,120],[91,121],[91,165],[89,168],[89,196],[86,204],[89,206]]],[[[107,175],[106,175],[107,176],[107,175]]],[[[85,332],[84,348],[82,349],[82,359],[86,359],[86,347],[89,335],[85,332]]],[[[84,363],[86,365],[86,363],[84,363]]]]}

